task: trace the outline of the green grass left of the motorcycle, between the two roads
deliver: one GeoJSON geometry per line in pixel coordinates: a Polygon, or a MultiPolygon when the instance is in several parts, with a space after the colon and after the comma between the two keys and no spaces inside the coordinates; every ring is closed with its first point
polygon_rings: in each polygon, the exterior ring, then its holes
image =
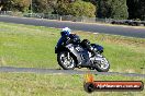
{"type": "Polygon", "coordinates": [[[2,65],[53,68],[56,65],[54,46],[57,29],[25,26],[1,25],[0,41],[2,65]],[[9,28],[8,28],[9,27],[9,28]]]}

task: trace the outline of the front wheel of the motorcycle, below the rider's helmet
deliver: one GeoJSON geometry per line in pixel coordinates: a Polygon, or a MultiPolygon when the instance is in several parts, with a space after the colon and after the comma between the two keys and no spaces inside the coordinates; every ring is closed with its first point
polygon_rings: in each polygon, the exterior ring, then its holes
{"type": "Polygon", "coordinates": [[[68,51],[62,51],[57,53],[57,61],[64,70],[74,70],[76,67],[75,59],[68,51]]]}

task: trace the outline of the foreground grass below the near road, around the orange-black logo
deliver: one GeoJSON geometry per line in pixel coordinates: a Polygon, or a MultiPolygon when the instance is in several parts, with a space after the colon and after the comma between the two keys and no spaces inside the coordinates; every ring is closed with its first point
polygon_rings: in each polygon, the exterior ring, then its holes
{"type": "MultiPolygon", "coordinates": [[[[143,81],[121,75],[93,75],[97,81],[143,81]]],[[[145,92],[83,91],[83,75],[0,73],[0,96],[145,96],[145,92]]]]}

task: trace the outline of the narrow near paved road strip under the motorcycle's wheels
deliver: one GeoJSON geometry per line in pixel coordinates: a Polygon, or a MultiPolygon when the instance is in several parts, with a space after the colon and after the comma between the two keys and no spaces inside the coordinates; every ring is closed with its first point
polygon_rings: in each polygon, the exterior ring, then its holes
{"type": "MultiPolygon", "coordinates": [[[[88,71],[78,71],[78,70],[56,70],[56,69],[38,69],[38,68],[13,68],[13,67],[0,67],[0,72],[23,72],[23,73],[55,73],[55,74],[85,74],[88,71]]],[[[144,77],[145,74],[137,73],[119,73],[119,72],[97,72],[90,71],[92,74],[102,74],[102,75],[124,75],[124,76],[138,76],[144,77]]]]}

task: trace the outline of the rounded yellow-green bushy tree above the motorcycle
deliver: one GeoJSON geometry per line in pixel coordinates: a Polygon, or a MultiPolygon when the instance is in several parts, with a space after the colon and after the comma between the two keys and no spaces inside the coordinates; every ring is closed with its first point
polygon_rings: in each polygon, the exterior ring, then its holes
{"type": "Polygon", "coordinates": [[[58,3],[57,12],[62,15],[74,16],[94,16],[96,7],[90,2],[76,0],[75,2],[65,1],[58,3]]]}

